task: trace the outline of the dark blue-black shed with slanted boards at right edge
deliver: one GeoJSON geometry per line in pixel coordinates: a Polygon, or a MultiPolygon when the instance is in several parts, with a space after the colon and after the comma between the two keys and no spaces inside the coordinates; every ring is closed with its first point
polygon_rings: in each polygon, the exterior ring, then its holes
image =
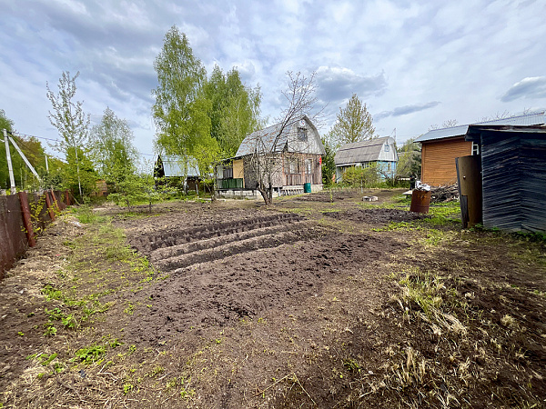
{"type": "Polygon", "coordinates": [[[470,125],[465,139],[480,147],[483,225],[546,234],[546,126],[470,125]]]}

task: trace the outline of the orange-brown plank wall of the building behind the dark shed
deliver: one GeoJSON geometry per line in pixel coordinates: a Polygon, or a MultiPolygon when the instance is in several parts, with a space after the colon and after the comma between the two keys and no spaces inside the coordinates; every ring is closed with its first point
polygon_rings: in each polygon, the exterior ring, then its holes
{"type": "Polygon", "coordinates": [[[424,142],[421,150],[421,182],[450,185],[457,182],[455,158],[472,154],[472,143],[464,136],[424,142]]]}

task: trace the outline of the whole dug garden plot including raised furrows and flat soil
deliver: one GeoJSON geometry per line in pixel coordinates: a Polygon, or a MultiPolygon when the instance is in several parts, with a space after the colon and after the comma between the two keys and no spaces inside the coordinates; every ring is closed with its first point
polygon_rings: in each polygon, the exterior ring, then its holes
{"type": "Polygon", "coordinates": [[[191,227],[130,236],[166,278],[127,299],[153,305],[128,325],[126,337],[156,344],[191,328],[235,324],[316,296],[339,271],[399,248],[390,239],[333,233],[298,214],[247,211],[224,214],[231,219],[217,223],[221,214],[192,215],[191,227]]]}

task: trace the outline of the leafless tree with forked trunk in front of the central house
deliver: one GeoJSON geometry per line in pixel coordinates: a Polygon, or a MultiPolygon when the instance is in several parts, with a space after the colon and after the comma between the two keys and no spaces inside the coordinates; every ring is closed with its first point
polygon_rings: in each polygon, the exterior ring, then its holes
{"type": "Polygon", "coordinates": [[[309,119],[316,119],[321,113],[315,109],[317,103],[315,73],[307,77],[300,72],[293,74],[288,71],[287,75],[288,88],[282,92],[287,107],[278,116],[278,125],[273,130],[270,127],[266,128],[268,132],[273,132],[273,135],[266,135],[262,130],[256,132],[249,141],[252,145],[252,154],[248,159],[248,165],[256,179],[256,188],[266,205],[273,203],[275,180],[282,172],[284,146],[279,144],[281,136],[304,115],[309,119]]]}

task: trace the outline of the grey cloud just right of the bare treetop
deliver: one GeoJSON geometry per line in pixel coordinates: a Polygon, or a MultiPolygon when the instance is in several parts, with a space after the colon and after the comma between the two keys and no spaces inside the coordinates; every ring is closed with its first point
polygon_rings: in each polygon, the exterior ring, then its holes
{"type": "Polygon", "coordinates": [[[349,68],[320,66],[317,70],[319,99],[325,103],[347,100],[357,94],[360,99],[381,95],[387,89],[385,73],[366,76],[349,68]]]}

